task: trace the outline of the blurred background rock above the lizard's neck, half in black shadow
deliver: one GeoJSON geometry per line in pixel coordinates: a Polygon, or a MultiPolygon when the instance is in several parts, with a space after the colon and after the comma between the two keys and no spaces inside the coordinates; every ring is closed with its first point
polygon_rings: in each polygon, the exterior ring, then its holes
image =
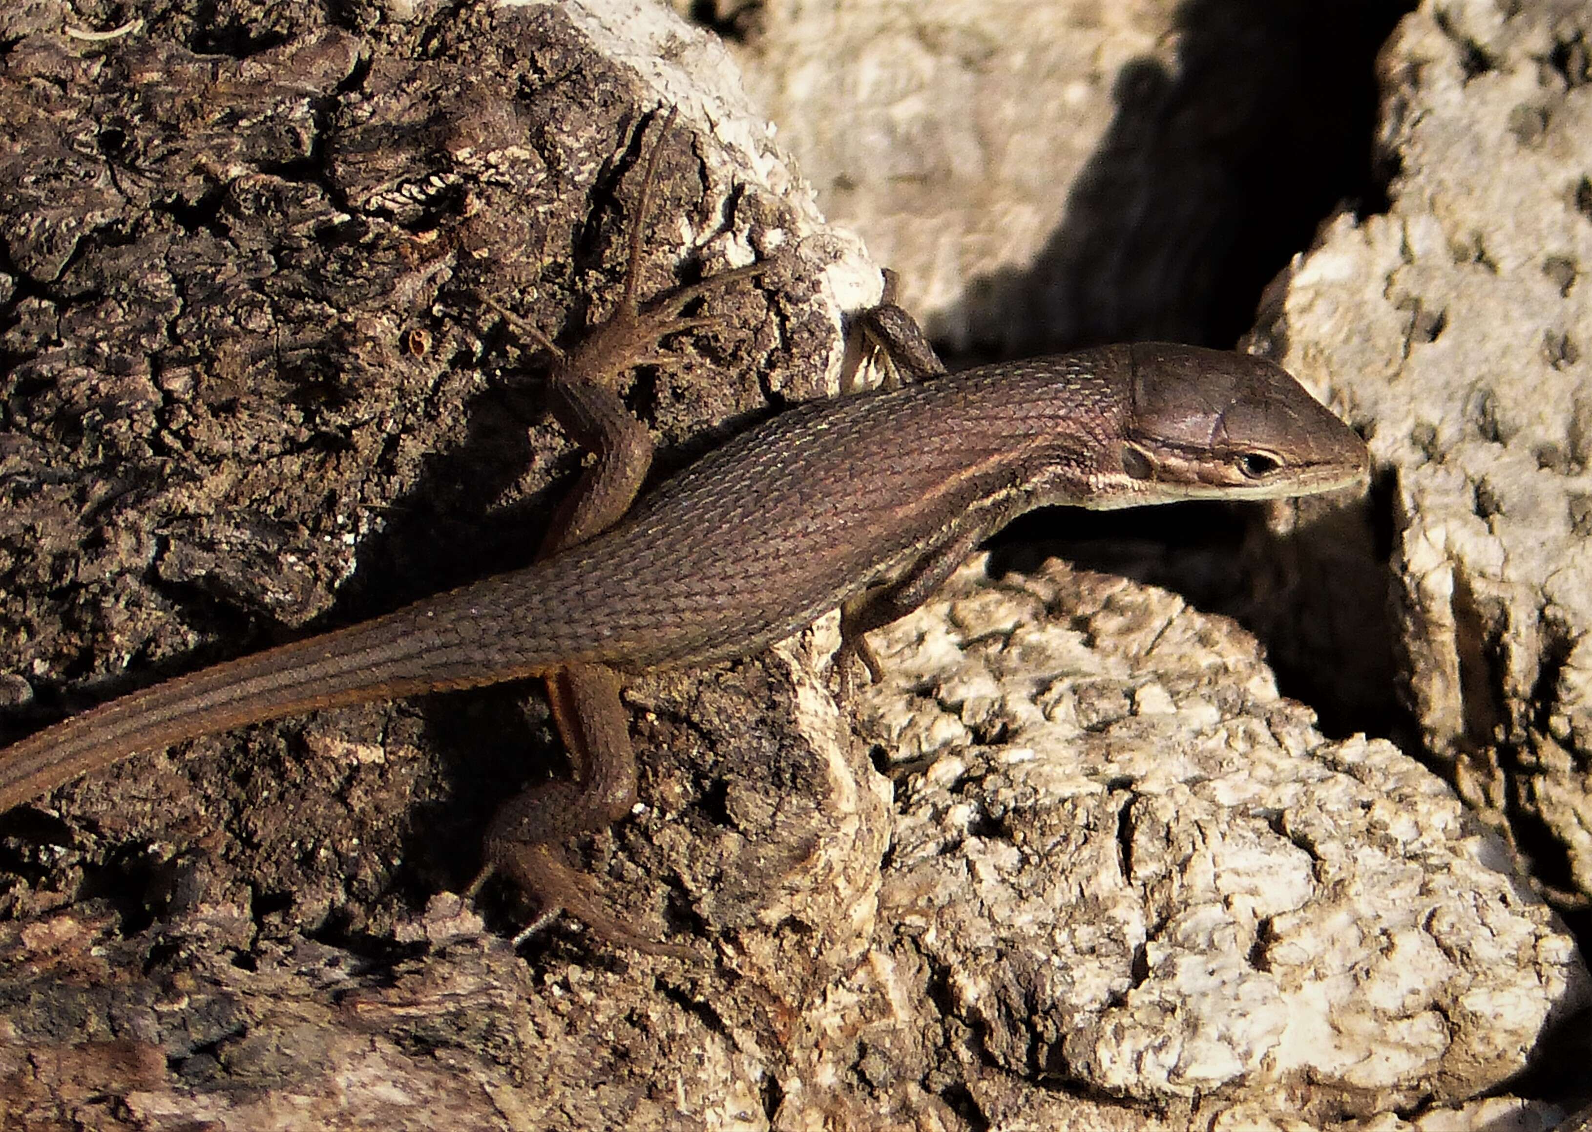
{"type": "Polygon", "coordinates": [[[734,30],[825,213],[901,274],[936,341],[1008,355],[1231,345],[1320,212],[1358,191],[1334,188],[1371,124],[1355,61],[1398,16],[1375,0],[677,6],[734,30]],[[1283,201],[1310,204],[1274,218],[1283,201]]]}

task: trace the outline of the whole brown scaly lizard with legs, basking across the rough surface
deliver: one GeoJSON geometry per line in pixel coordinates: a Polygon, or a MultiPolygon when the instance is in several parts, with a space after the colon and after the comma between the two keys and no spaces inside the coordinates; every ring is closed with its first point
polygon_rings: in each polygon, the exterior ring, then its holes
{"type": "MultiPolygon", "coordinates": [[[[657,148],[642,212],[656,159],[657,148]]],[[[627,280],[638,253],[637,220],[627,280]]],[[[689,303],[761,269],[645,307],[627,282],[616,312],[557,357],[556,416],[600,459],[540,560],[45,728],[0,751],[0,812],[137,751],[248,723],[544,677],[575,774],[503,806],[487,869],[548,914],[568,909],[615,941],[689,954],[619,923],[554,852],[634,802],[621,673],[747,656],[836,607],[860,642],[1036,506],[1277,498],[1366,476],[1360,436],[1262,358],[1137,344],[944,374],[915,323],[885,306],[876,333],[931,381],[798,404],[630,509],[651,439],[613,385],[656,361],[661,339],[704,325],[681,315],[689,303]]]]}

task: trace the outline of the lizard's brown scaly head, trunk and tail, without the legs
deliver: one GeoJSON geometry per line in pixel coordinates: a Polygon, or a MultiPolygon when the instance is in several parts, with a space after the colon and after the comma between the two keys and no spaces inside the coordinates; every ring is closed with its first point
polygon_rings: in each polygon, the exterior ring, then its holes
{"type": "Polygon", "coordinates": [[[1035,506],[1301,495],[1364,466],[1360,438],[1285,371],[1194,347],[1113,345],[801,404],[562,554],[24,739],[0,751],[0,810],[142,750],[314,708],[572,662],[756,653],[1035,506]]]}

